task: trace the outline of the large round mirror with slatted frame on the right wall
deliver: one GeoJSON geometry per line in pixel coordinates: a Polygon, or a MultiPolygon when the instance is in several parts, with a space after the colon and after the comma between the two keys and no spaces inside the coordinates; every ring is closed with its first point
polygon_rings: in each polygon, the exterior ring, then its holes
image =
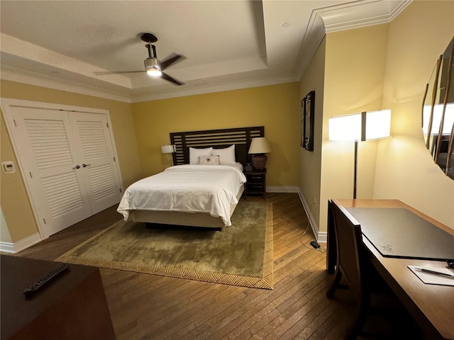
{"type": "Polygon", "coordinates": [[[453,40],[438,58],[426,85],[422,129],[433,162],[454,179],[454,47],[453,40]]]}

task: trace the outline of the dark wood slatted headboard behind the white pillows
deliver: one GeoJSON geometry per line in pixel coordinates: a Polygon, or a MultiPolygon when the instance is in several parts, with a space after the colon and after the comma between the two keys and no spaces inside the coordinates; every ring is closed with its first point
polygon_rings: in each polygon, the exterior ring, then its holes
{"type": "Polygon", "coordinates": [[[263,126],[172,132],[170,133],[170,142],[177,149],[173,154],[173,164],[189,164],[189,147],[196,149],[204,147],[223,149],[234,144],[236,162],[244,165],[251,162],[248,150],[251,140],[255,137],[265,137],[265,128],[263,126]]]}

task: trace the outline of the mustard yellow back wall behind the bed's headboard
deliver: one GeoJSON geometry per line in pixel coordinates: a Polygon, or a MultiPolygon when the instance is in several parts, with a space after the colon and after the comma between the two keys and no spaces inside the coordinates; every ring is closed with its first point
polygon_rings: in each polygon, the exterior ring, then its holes
{"type": "Polygon", "coordinates": [[[297,186],[299,84],[287,83],[132,104],[144,176],[169,166],[160,145],[170,132],[265,126],[272,152],[267,186],[297,186]]]}

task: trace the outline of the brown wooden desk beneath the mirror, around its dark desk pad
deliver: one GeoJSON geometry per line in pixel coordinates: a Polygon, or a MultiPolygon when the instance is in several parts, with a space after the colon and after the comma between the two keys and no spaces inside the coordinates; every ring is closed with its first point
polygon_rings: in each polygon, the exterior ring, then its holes
{"type": "MultiPolygon", "coordinates": [[[[399,200],[338,200],[345,208],[406,208],[433,225],[454,235],[454,230],[424,215],[399,200]]],[[[328,221],[327,270],[333,273],[336,266],[336,242],[333,227],[328,221]]],[[[427,339],[454,339],[454,287],[426,285],[412,273],[407,265],[443,267],[445,261],[399,259],[384,257],[366,237],[362,237],[370,261],[399,297],[403,305],[425,331],[427,339]]],[[[430,240],[424,240],[430,242],[430,240]]]]}

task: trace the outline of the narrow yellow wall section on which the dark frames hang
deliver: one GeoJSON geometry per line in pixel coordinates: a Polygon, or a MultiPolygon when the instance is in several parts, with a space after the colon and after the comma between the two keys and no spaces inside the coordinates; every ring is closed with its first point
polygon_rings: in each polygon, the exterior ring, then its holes
{"type": "Polygon", "coordinates": [[[299,84],[299,98],[315,91],[314,151],[299,148],[299,190],[317,226],[320,225],[320,186],[321,186],[321,136],[323,131],[323,84],[325,73],[325,45],[323,39],[299,84]]]}

